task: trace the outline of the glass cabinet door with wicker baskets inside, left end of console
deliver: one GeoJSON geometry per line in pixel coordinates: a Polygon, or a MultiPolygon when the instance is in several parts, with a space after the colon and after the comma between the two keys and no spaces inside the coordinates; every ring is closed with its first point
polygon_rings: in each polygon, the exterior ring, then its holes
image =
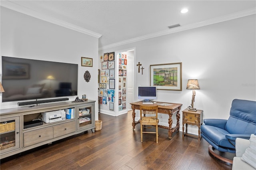
{"type": "Polygon", "coordinates": [[[19,116],[0,119],[0,154],[20,148],[19,116]]]}

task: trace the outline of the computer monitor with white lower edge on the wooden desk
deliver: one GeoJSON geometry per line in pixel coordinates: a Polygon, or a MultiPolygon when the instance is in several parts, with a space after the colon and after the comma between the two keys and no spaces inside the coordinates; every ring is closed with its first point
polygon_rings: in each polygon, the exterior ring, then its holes
{"type": "Polygon", "coordinates": [[[139,86],[138,87],[138,99],[157,99],[155,86],[139,86]]]}

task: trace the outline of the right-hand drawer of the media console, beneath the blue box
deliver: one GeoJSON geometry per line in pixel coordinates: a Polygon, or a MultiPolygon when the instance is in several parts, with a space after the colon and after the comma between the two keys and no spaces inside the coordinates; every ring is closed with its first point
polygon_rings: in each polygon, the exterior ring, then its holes
{"type": "Polygon", "coordinates": [[[63,136],[76,131],[76,121],[62,123],[53,127],[53,137],[63,136]]]}

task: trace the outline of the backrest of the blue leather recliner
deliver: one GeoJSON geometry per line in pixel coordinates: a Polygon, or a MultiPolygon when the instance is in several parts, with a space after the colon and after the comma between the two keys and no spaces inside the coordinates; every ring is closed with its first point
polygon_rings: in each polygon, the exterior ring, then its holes
{"type": "Polygon", "coordinates": [[[256,134],[256,101],[234,99],[225,130],[230,134],[256,134]]]}

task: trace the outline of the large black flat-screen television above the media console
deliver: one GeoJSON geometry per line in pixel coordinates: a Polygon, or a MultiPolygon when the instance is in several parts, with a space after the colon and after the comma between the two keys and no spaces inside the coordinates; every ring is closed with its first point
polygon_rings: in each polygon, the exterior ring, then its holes
{"type": "Polygon", "coordinates": [[[2,56],[2,102],[76,96],[78,64],[2,56]]]}

